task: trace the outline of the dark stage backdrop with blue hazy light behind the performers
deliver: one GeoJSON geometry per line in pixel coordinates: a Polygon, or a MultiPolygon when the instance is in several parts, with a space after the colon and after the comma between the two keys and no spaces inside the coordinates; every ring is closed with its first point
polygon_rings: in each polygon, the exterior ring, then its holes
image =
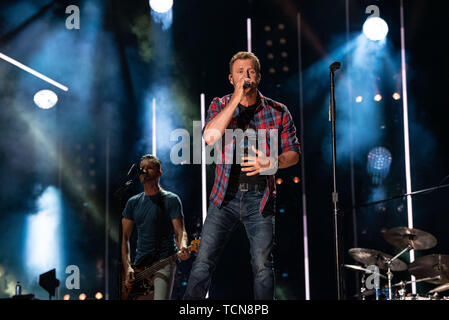
{"type": "MultiPolygon", "coordinates": [[[[448,183],[443,180],[449,175],[448,20],[442,6],[440,1],[404,1],[414,191],[448,183]]],[[[65,294],[77,299],[80,293],[93,298],[96,292],[118,298],[121,211],[141,189],[136,185],[121,198],[114,192],[131,164],[151,153],[153,98],[161,185],[181,197],[189,237],[200,235],[201,166],[170,163],[177,141],[170,140],[170,132],[184,128],[192,135],[193,121],[200,120],[201,93],[208,105],[232,92],[228,63],[247,49],[246,19],[251,18],[252,51],[262,64],[260,91],[288,106],[298,136],[303,102],[304,162],[276,174],[283,180],[277,186],[276,295],[306,299],[304,194],[310,298],[336,299],[328,66],[342,62],[336,101],[343,262],[357,264],[348,249],[398,253],[382,233],[407,226],[403,198],[352,210],[352,204],[406,193],[403,97],[392,99],[394,92],[402,96],[399,14],[399,0],[178,0],[172,24],[164,29],[167,25],[151,16],[148,1],[2,1],[0,52],[69,91],[0,60],[0,298],[12,296],[20,281],[23,293],[47,299],[38,277],[52,268],[61,281],[61,299],[65,294]],[[379,6],[390,28],[381,48],[361,38],[371,4],[379,6]],[[65,26],[69,5],[80,8],[79,30],[65,26]],[[33,103],[41,89],[58,94],[54,108],[33,103]],[[373,101],[377,93],[383,96],[380,102],[373,101]],[[363,96],[361,103],[355,102],[357,96],[363,96]],[[389,150],[391,166],[373,173],[367,156],[379,146],[389,150]],[[294,183],[294,177],[305,184],[294,183]],[[66,286],[69,265],[80,270],[78,289],[66,286]]],[[[208,195],[213,174],[209,165],[208,195]]],[[[414,196],[413,212],[415,228],[438,239],[436,247],[416,256],[449,254],[448,189],[414,196]]],[[[239,227],[218,263],[211,299],[252,298],[248,249],[239,227]]],[[[182,298],[193,259],[178,266],[172,299],[182,298]]],[[[409,261],[408,255],[401,259],[409,261]]],[[[343,275],[345,298],[354,299],[360,273],[343,270],[343,275]]],[[[394,283],[408,278],[408,272],[395,273],[394,283]]],[[[431,288],[418,285],[423,293],[431,288]]]]}

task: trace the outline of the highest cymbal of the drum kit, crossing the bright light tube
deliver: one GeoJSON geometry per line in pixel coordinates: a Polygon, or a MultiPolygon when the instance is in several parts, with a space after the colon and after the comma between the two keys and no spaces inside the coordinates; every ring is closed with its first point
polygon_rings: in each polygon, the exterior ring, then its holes
{"type": "Polygon", "coordinates": [[[407,227],[398,227],[384,233],[384,239],[395,247],[404,249],[411,245],[414,250],[431,249],[437,245],[437,239],[425,231],[407,227]]]}

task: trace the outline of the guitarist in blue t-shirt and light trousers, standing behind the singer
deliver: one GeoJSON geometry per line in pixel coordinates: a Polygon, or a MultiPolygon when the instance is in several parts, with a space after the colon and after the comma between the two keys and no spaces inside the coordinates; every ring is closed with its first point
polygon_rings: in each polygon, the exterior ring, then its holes
{"type": "MultiPolygon", "coordinates": [[[[125,273],[123,280],[129,290],[132,290],[135,272],[138,271],[134,270],[133,266],[149,267],[158,260],[173,255],[176,250],[181,260],[190,257],[181,200],[176,194],[160,187],[161,175],[161,161],[153,155],[143,156],[139,180],[143,184],[144,192],[131,197],[123,210],[121,245],[125,273]],[[137,247],[132,266],[130,237],[134,227],[137,229],[137,247]]],[[[170,299],[175,269],[173,263],[155,272],[152,283],[154,300],[170,299]]],[[[137,297],[137,299],[148,298],[148,296],[137,297]]]]}

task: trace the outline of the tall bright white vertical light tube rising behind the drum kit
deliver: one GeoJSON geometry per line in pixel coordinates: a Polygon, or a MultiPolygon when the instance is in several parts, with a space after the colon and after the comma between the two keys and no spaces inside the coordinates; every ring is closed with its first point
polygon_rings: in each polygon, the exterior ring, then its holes
{"type": "MultiPolygon", "coordinates": [[[[408,95],[407,95],[407,66],[405,61],[405,27],[404,27],[404,1],[401,0],[401,71],[402,71],[402,107],[404,121],[404,152],[405,152],[405,181],[407,188],[407,220],[408,227],[413,228],[412,178],[410,170],[410,140],[408,123],[408,95]]],[[[410,263],[415,261],[415,251],[410,251],[410,263]]],[[[412,276],[412,281],[416,278],[412,276]]],[[[416,294],[416,283],[412,282],[412,293],[416,294]]]]}

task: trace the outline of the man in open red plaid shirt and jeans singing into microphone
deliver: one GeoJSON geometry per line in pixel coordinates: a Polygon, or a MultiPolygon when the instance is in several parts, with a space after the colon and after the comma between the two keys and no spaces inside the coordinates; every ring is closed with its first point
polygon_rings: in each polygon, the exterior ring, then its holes
{"type": "Polygon", "coordinates": [[[239,52],[229,67],[234,93],[212,101],[203,129],[215,147],[215,181],[186,300],[205,298],[221,249],[240,221],[250,242],[254,298],[274,298],[274,174],[298,163],[299,142],[287,107],[257,89],[259,59],[239,52]]]}

